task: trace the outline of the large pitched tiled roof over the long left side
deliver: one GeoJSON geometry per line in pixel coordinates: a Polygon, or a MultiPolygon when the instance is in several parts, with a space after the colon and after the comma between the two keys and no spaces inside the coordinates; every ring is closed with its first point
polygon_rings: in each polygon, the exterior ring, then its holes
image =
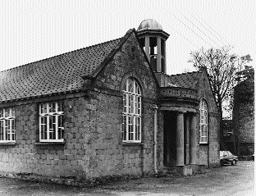
{"type": "Polygon", "coordinates": [[[81,89],[121,39],[0,72],[0,102],[81,89]]]}

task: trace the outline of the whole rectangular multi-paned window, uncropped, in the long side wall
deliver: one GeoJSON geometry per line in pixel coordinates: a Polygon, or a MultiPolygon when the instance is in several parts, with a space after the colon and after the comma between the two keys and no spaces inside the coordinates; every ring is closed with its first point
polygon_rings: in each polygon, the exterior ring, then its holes
{"type": "Polygon", "coordinates": [[[63,142],[62,103],[41,103],[39,105],[39,141],[63,142]]]}

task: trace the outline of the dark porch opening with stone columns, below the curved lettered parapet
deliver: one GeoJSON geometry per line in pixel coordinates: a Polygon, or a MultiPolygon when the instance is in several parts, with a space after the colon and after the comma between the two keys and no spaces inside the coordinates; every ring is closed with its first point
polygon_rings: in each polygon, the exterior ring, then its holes
{"type": "Polygon", "coordinates": [[[197,167],[197,115],[195,112],[164,110],[163,165],[181,175],[197,167]]]}

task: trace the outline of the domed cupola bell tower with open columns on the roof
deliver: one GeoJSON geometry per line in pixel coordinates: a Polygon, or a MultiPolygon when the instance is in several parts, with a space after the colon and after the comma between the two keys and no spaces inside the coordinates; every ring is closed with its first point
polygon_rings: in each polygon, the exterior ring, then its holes
{"type": "Polygon", "coordinates": [[[153,71],[167,73],[166,40],[170,34],[162,30],[162,25],[153,19],[140,23],[137,34],[139,44],[144,48],[153,71]]]}

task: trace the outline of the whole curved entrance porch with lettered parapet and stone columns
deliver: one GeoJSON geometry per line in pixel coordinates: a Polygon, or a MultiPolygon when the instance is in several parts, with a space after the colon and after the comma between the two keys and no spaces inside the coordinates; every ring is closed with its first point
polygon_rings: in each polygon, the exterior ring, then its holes
{"type": "Polygon", "coordinates": [[[163,166],[181,175],[197,167],[199,99],[196,89],[164,86],[160,89],[163,113],[163,166]]]}

